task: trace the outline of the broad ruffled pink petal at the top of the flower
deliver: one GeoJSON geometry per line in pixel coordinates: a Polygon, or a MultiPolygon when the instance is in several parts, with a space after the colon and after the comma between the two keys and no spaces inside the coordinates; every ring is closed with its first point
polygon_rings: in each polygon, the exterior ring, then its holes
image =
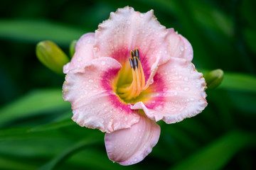
{"type": "Polygon", "coordinates": [[[169,60],[169,31],[156,20],[153,10],[119,8],[95,31],[95,56],[113,57],[120,63],[129,60],[131,50],[139,49],[146,79],[158,65],[169,60]]]}

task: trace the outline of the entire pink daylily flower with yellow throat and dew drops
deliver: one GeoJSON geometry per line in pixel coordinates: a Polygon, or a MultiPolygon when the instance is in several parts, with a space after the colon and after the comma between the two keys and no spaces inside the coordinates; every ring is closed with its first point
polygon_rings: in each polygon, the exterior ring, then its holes
{"type": "Polygon", "coordinates": [[[136,164],[159,140],[157,121],[176,123],[206,108],[206,81],[192,58],[188,40],[152,10],[119,8],[78,40],[64,66],[63,98],[78,125],[106,132],[113,162],[136,164]]]}

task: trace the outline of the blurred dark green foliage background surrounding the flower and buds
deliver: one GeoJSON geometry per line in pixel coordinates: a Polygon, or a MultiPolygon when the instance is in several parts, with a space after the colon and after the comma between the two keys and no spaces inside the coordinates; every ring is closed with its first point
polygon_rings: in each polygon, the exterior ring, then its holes
{"type": "Polygon", "coordinates": [[[256,169],[255,6],[253,0],[1,1],[0,169],[256,169]],[[127,5],[153,8],[162,25],[191,42],[199,70],[220,68],[225,77],[206,91],[203,113],[160,122],[153,152],[120,166],[107,158],[102,132],[70,120],[64,77],[43,67],[35,48],[52,40],[68,54],[72,40],[127,5]]]}

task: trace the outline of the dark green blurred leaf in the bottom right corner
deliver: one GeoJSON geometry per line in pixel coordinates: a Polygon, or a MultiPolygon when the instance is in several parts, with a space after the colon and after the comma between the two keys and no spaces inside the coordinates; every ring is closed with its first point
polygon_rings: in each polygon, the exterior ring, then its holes
{"type": "Polygon", "coordinates": [[[255,134],[233,131],[220,137],[217,141],[203,147],[171,170],[222,169],[225,164],[243,147],[256,144],[255,134]]]}

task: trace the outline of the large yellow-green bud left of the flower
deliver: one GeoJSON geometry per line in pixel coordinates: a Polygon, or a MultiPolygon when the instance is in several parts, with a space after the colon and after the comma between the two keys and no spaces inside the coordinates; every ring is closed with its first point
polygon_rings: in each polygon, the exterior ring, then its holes
{"type": "Polygon", "coordinates": [[[54,42],[42,41],[36,45],[36,56],[46,67],[57,74],[63,74],[63,66],[70,60],[54,42]]]}

